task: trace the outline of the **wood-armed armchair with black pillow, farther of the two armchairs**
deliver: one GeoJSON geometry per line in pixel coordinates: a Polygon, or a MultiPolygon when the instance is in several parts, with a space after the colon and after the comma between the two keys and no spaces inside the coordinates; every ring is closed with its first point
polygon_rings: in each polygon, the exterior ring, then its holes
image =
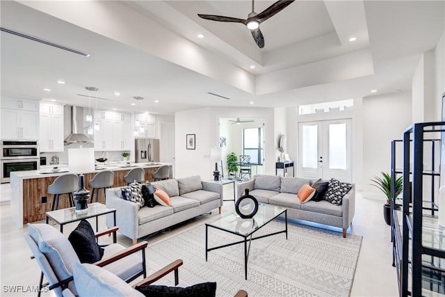
{"type": "MultiPolygon", "coordinates": [[[[125,248],[119,243],[115,243],[115,232],[118,227],[96,234],[102,236],[114,233],[113,243],[106,246],[104,256],[95,266],[104,267],[107,271],[117,275],[124,281],[130,282],[138,276],[147,276],[145,265],[145,248],[147,241],[142,241],[135,246],[125,248]],[[139,252],[142,255],[136,255],[139,252]]],[[[80,264],[74,248],[62,233],[56,228],[47,224],[28,223],[28,233],[24,233],[26,243],[28,243],[33,257],[42,269],[40,275],[39,289],[42,289],[43,276],[47,278],[49,289],[54,289],[56,296],[63,296],[63,289],[68,288],[76,294],[76,288],[72,282],[73,269],[76,264],[80,264]]],[[[46,285],[46,284],[45,284],[46,285]]],[[[39,294],[40,296],[40,290],[39,294]]]]}

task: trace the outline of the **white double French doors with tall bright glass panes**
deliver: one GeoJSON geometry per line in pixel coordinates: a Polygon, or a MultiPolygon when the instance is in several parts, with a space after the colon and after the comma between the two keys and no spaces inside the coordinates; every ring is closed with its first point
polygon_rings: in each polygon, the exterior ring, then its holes
{"type": "Polygon", "coordinates": [[[298,123],[298,176],[351,181],[351,119],[298,123]]]}

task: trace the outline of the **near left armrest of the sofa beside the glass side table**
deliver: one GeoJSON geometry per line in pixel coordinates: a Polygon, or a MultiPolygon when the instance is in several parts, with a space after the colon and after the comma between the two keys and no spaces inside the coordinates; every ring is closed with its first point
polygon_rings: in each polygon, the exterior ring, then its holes
{"type": "MultiPolygon", "coordinates": [[[[106,207],[116,209],[116,225],[119,232],[129,237],[137,239],[138,236],[138,204],[124,200],[115,194],[117,188],[106,189],[106,207]]],[[[106,217],[107,227],[113,227],[113,216],[106,217]]]]}

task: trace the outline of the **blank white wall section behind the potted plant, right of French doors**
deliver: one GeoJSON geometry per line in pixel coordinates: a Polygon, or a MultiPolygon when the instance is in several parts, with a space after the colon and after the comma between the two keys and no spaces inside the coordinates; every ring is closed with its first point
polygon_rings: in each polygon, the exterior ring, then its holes
{"type": "Polygon", "coordinates": [[[363,197],[385,199],[371,186],[380,171],[391,172],[391,141],[402,139],[412,124],[411,92],[391,93],[363,99],[363,197]]]}

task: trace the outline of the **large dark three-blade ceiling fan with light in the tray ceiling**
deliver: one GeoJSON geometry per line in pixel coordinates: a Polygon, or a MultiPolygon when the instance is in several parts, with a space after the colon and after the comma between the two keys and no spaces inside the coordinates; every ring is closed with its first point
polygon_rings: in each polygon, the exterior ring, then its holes
{"type": "Polygon", "coordinates": [[[273,3],[271,6],[266,8],[261,13],[255,13],[254,11],[254,0],[252,0],[252,12],[248,14],[247,19],[238,19],[236,17],[223,17],[220,15],[200,15],[198,13],[199,17],[202,17],[203,19],[210,19],[211,21],[218,21],[218,22],[234,22],[234,23],[241,23],[250,29],[250,32],[252,33],[253,39],[255,42],[257,42],[257,45],[260,49],[264,47],[264,37],[263,33],[259,30],[259,24],[266,21],[269,17],[273,17],[277,13],[280,13],[281,10],[289,6],[295,0],[279,0],[275,3],[273,3]]]}

